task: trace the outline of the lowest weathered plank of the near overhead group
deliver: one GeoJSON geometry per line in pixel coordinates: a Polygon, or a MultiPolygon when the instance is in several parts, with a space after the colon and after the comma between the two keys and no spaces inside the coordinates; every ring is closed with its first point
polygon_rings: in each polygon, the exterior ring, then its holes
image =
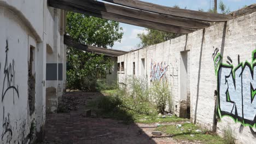
{"type": "MultiPolygon", "coordinates": [[[[135,25],[135,26],[158,29],[160,31],[181,33],[181,34],[187,34],[187,33],[191,33],[191,32],[195,31],[195,29],[189,29],[189,28],[184,28],[184,27],[179,27],[179,26],[172,26],[172,25],[167,25],[164,23],[146,21],[146,20],[136,19],[133,17],[107,13],[105,11],[89,9],[89,8],[85,8],[84,6],[71,3],[70,1],[71,0],[65,0],[65,1],[64,0],[48,0],[48,5],[50,7],[73,11],[75,13],[82,13],[85,15],[91,15],[91,16],[100,17],[100,18],[107,19],[107,20],[123,22],[123,23],[127,23],[130,25],[135,25]]],[[[74,0],[72,0],[72,2],[73,1],[74,0]]],[[[77,0],[75,0],[75,2],[77,2],[77,0]]]]}

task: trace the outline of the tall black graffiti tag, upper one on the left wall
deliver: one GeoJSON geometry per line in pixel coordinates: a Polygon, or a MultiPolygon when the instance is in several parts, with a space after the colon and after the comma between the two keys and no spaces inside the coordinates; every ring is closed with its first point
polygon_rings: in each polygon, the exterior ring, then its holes
{"type": "MultiPolygon", "coordinates": [[[[9,90],[13,90],[13,104],[14,104],[14,93],[16,93],[19,98],[19,87],[18,85],[15,86],[15,70],[14,70],[15,63],[14,63],[14,59],[12,63],[8,63],[8,51],[9,51],[8,41],[6,40],[2,102],[7,92],[9,90]]],[[[1,65],[0,65],[0,71],[1,71],[1,65]]]]}

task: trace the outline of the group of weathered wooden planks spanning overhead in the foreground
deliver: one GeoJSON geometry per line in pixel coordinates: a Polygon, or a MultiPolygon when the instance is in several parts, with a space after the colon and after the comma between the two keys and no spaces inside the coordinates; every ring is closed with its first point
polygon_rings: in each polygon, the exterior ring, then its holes
{"type": "Polygon", "coordinates": [[[209,27],[209,22],[232,19],[231,15],[165,7],[137,0],[48,0],[48,5],[160,31],[187,34],[209,27]],[[111,4],[113,3],[113,4],[111,4]]]}

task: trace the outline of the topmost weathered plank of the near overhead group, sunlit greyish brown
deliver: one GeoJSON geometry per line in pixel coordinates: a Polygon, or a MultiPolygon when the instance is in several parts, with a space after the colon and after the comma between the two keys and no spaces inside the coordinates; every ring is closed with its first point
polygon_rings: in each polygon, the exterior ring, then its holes
{"type": "Polygon", "coordinates": [[[232,19],[231,15],[206,13],[202,11],[188,10],[188,9],[177,9],[177,8],[171,8],[163,5],[142,2],[137,0],[103,0],[103,1],[124,5],[130,8],[151,11],[153,13],[179,16],[179,17],[184,17],[184,18],[194,19],[194,20],[201,20],[201,21],[219,22],[219,21],[228,21],[232,19]]]}

